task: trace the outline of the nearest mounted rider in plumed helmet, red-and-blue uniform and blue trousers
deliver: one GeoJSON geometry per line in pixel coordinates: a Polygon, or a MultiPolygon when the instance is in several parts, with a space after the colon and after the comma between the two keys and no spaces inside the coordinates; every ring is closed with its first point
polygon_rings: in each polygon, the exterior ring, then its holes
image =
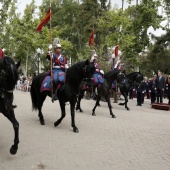
{"type": "Polygon", "coordinates": [[[57,39],[54,39],[54,53],[51,53],[52,45],[49,46],[47,58],[51,60],[50,56],[52,56],[52,73],[53,73],[53,82],[55,93],[52,96],[52,101],[57,100],[57,90],[65,83],[65,72],[68,68],[67,58],[61,54],[62,46],[58,42],[57,39]]]}

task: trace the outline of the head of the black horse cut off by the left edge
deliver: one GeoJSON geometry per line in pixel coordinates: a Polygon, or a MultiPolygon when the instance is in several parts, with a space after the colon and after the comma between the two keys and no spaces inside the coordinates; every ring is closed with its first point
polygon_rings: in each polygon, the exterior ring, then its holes
{"type": "Polygon", "coordinates": [[[3,57],[0,63],[0,87],[4,90],[13,90],[18,80],[17,67],[10,57],[3,57]]]}

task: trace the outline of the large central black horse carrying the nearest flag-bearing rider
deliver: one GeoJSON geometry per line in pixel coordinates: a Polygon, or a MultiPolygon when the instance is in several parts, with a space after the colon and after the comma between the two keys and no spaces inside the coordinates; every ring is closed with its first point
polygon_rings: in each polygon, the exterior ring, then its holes
{"type": "MultiPolygon", "coordinates": [[[[66,115],[65,111],[65,102],[70,102],[70,109],[71,109],[71,126],[73,127],[74,132],[79,132],[78,128],[75,125],[75,104],[77,101],[77,94],[79,91],[79,85],[83,78],[88,78],[93,75],[95,71],[94,63],[89,62],[89,60],[78,62],[67,69],[66,72],[66,82],[64,87],[61,87],[62,90],[58,90],[58,99],[61,108],[61,118],[58,119],[54,126],[58,126],[63,118],[66,115]]],[[[32,99],[32,108],[34,110],[39,111],[39,120],[42,125],[45,124],[44,117],[41,112],[41,108],[43,105],[46,96],[51,96],[50,91],[44,91],[40,93],[40,87],[42,81],[47,76],[48,73],[41,73],[33,79],[32,86],[31,86],[31,99],[32,99]]]]}

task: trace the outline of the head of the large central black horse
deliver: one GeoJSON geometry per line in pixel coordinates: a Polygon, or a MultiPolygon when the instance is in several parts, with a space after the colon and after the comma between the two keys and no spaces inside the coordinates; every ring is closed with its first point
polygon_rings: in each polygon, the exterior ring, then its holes
{"type": "Polygon", "coordinates": [[[94,63],[89,62],[89,60],[87,59],[85,61],[85,65],[83,68],[84,78],[91,78],[93,76],[94,71],[95,71],[94,63]]]}

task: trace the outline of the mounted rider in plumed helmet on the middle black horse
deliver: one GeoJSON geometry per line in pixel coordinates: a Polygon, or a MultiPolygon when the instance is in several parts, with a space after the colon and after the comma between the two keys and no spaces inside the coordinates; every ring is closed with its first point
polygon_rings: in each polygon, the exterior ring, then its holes
{"type": "Polygon", "coordinates": [[[94,66],[95,66],[95,72],[93,74],[94,84],[95,84],[95,86],[101,86],[101,84],[103,84],[103,82],[104,82],[104,79],[103,79],[104,72],[103,72],[103,70],[100,69],[100,66],[97,62],[97,54],[96,53],[93,54],[90,61],[93,62],[94,66]]]}

